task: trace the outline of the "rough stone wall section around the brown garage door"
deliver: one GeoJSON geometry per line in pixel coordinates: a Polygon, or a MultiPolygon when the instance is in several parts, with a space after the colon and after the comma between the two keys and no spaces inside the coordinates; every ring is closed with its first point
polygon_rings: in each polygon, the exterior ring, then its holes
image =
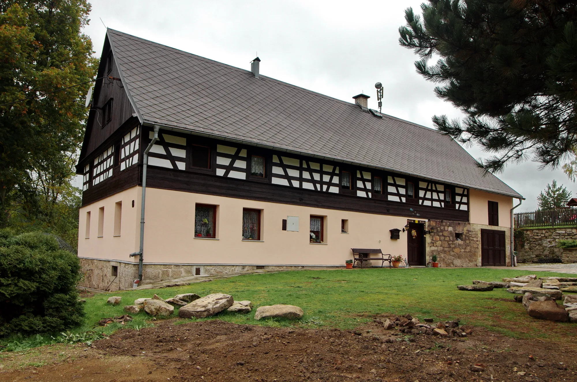
{"type": "MultiPolygon", "coordinates": [[[[449,220],[429,220],[426,230],[432,232],[426,235],[427,261],[436,254],[441,267],[481,267],[481,229],[494,230],[495,227],[449,220]],[[460,239],[456,234],[461,234],[460,239]]],[[[505,231],[507,243],[505,259],[509,266],[511,230],[505,227],[499,227],[498,230],[505,231]]]]}

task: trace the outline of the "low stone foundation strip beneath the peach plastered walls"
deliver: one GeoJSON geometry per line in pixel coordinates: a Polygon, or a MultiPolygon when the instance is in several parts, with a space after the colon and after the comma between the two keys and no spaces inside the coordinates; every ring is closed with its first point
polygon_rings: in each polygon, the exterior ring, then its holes
{"type": "MultiPolygon", "coordinates": [[[[83,279],[80,286],[99,290],[126,290],[132,289],[134,280],[138,279],[138,264],[124,263],[113,260],[83,259],[80,258],[83,279]],[[118,275],[113,276],[113,266],[118,267],[118,275]]],[[[185,264],[144,264],[143,280],[159,282],[179,279],[187,276],[233,275],[242,272],[264,269],[268,271],[283,271],[287,269],[304,269],[302,266],[286,265],[185,265],[185,264]]]]}

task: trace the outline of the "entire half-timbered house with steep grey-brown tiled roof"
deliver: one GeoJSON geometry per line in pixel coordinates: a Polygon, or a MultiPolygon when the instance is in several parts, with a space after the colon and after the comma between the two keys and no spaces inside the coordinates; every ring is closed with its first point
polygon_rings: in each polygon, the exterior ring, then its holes
{"type": "Polygon", "coordinates": [[[77,166],[86,286],[342,267],[351,248],[511,263],[522,196],[454,140],[259,66],[108,29],[77,166]]]}

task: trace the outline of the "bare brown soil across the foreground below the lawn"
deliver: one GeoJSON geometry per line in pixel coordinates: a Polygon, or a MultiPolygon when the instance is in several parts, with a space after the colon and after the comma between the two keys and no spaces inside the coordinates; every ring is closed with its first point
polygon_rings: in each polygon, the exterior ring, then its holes
{"type": "Polygon", "coordinates": [[[1,368],[0,381],[577,381],[575,343],[470,329],[457,339],[377,323],[346,331],[166,320],[71,346],[65,360],[1,368]]]}

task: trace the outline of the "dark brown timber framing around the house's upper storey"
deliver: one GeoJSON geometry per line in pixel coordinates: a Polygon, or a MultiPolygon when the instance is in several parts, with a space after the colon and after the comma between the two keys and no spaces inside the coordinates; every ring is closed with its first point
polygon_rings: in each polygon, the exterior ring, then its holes
{"type": "MultiPolygon", "coordinates": [[[[115,141],[121,140],[121,138],[136,126],[136,123],[125,123],[123,128],[118,129],[113,136],[108,138],[98,149],[93,152],[96,155],[104,147],[110,147],[114,145],[115,141]]],[[[298,156],[293,154],[290,158],[298,159],[301,163],[306,163],[308,170],[305,171],[301,168],[299,172],[299,177],[292,177],[288,174],[286,170],[283,174],[274,174],[279,176],[288,177],[291,181],[299,182],[301,187],[295,186],[283,186],[272,184],[271,178],[271,167],[275,164],[277,167],[284,167],[282,156],[287,155],[286,153],[276,152],[267,149],[254,148],[249,146],[243,146],[238,144],[232,144],[228,142],[211,140],[209,138],[197,137],[190,134],[181,134],[172,131],[161,130],[161,133],[167,133],[173,136],[184,137],[187,139],[187,144],[202,143],[203,145],[208,145],[211,148],[211,169],[205,168],[195,168],[190,167],[188,164],[186,170],[175,170],[173,168],[163,168],[149,165],[148,168],[148,186],[160,189],[170,189],[178,190],[184,192],[193,192],[201,194],[213,194],[218,196],[228,196],[237,197],[239,199],[248,200],[260,200],[260,201],[270,201],[273,203],[286,203],[294,205],[304,205],[310,207],[323,207],[329,209],[342,209],[346,211],[357,211],[366,212],[370,214],[380,214],[380,215],[393,215],[393,216],[414,216],[415,219],[443,219],[443,220],[454,220],[459,222],[469,221],[469,211],[462,211],[458,209],[447,209],[432,207],[427,205],[415,205],[410,203],[403,203],[398,201],[387,200],[385,198],[380,199],[379,197],[359,197],[349,191],[350,194],[344,193],[332,193],[332,192],[322,192],[323,189],[328,189],[330,185],[340,186],[340,182],[334,182],[335,177],[338,177],[336,173],[336,168],[343,168],[344,170],[351,171],[351,181],[356,182],[357,171],[366,171],[374,176],[378,176],[387,179],[388,176],[410,179],[402,174],[392,174],[388,171],[377,171],[370,168],[363,168],[360,166],[350,166],[343,165],[342,163],[334,163],[323,160],[317,160],[310,157],[298,156]],[[246,179],[235,179],[223,176],[217,176],[216,168],[226,168],[228,166],[215,166],[216,156],[223,155],[223,153],[216,152],[217,144],[226,144],[231,147],[234,145],[236,148],[234,155],[228,155],[233,160],[242,159],[246,160],[246,168],[234,167],[235,171],[246,171],[250,175],[249,159],[252,153],[258,153],[260,156],[265,158],[265,178],[257,178],[247,176],[246,179]],[[246,156],[241,156],[241,152],[246,156]],[[284,154],[284,155],[283,155],[284,154]],[[273,156],[277,156],[279,162],[273,162],[273,156]],[[234,159],[233,159],[234,158],[234,159]],[[311,168],[311,163],[319,163],[319,170],[311,168]],[[353,171],[354,170],[354,171],[353,171]],[[318,179],[314,177],[314,172],[319,173],[318,179]],[[308,177],[304,178],[303,173],[308,173],[308,177]],[[309,179],[314,178],[313,179],[309,179]],[[314,190],[309,190],[302,188],[303,181],[316,181],[314,190]],[[323,187],[324,186],[324,187],[323,187]],[[326,187],[326,188],[325,188],[326,187]]],[[[148,142],[149,129],[140,129],[140,147],[145,147],[148,142]],[[144,145],[144,146],[143,146],[144,145]]],[[[141,172],[142,172],[142,158],[141,153],[139,153],[140,158],[138,160],[137,166],[131,166],[123,171],[120,171],[119,167],[113,168],[112,177],[100,182],[96,186],[92,186],[89,183],[89,188],[83,193],[83,205],[92,203],[93,201],[103,199],[104,197],[110,196],[121,190],[128,189],[132,186],[140,185],[141,182],[141,172]]],[[[93,161],[93,156],[88,156],[84,158],[82,162],[78,164],[79,168],[84,168],[85,164],[89,164],[93,161]]],[[[187,163],[190,161],[190,156],[187,155],[187,163]]],[[[224,169],[223,168],[223,169],[224,169]]],[[[296,170],[297,167],[287,167],[296,170]]],[[[340,171],[340,170],[339,170],[340,171]]],[[[287,180],[288,180],[287,179],[287,180]]],[[[366,182],[368,179],[362,179],[366,182]]],[[[371,179],[372,182],[372,179],[371,179]]],[[[355,183],[353,183],[354,185],[355,183]]],[[[387,183],[385,183],[387,184],[387,183]]],[[[402,187],[402,186],[400,186],[402,187]]],[[[400,188],[399,187],[399,188],[400,188]]],[[[340,187],[339,187],[340,188],[340,187]]],[[[354,188],[354,187],[353,187],[354,188]]],[[[396,191],[396,190],[395,190],[396,191]]],[[[356,192],[356,191],[355,191],[356,192]]],[[[387,196],[386,190],[383,190],[383,196],[387,196]]],[[[397,194],[396,192],[394,194],[397,194]]]]}

